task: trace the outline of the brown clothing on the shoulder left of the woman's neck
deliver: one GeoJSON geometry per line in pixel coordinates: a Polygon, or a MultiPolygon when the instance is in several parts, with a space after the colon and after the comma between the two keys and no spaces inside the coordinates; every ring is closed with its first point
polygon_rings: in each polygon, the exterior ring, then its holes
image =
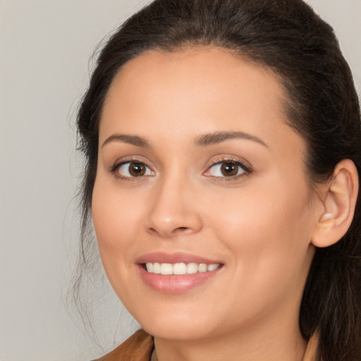
{"type": "Polygon", "coordinates": [[[149,361],[153,348],[152,336],[140,329],[110,353],[94,361],[149,361]]]}

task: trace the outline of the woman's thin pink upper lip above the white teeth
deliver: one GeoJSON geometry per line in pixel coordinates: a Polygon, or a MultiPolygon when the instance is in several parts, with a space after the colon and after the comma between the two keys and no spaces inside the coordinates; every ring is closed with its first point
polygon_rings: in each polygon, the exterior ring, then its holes
{"type": "Polygon", "coordinates": [[[190,255],[183,252],[165,253],[165,252],[153,252],[142,255],[135,260],[137,264],[143,264],[147,262],[158,263],[205,263],[205,264],[220,264],[221,262],[214,259],[207,259],[204,257],[190,255]]]}

